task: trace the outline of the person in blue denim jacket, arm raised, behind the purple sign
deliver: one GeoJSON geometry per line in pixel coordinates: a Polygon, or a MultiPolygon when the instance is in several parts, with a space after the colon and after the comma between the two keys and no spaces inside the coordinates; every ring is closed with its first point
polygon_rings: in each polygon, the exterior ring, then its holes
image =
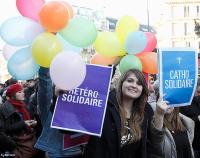
{"type": "Polygon", "coordinates": [[[59,129],[51,128],[51,120],[53,116],[52,107],[54,106],[52,100],[56,100],[56,96],[53,98],[53,84],[48,68],[40,67],[39,69],[37,96],[43,129],[35,147],[47,152],[49,158],[81,158],[81,147],[75,146],[63,150],[63,132],[59,129]]]}

